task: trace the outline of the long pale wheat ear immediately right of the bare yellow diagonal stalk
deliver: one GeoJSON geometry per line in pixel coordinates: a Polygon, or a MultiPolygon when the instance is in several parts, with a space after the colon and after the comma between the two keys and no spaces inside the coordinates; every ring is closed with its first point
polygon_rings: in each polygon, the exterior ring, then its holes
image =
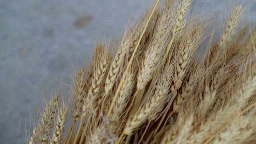
{"type": "Polygon", "coordinates": [[[144,92],[143,89],[145,88],[146,84],[148,84],[148,82],[152,79],[152,76],[156,68],[158,67],[158,60],[162,56],[164,50],[164,43],[166,41],[166,37],[168,36],[170,12],[171,9],[168,9],[168,7],[165,6],[163,13],[161,13],[160,18],[156,23],[156,28],[152,37],[152,41],[149,43],[148,49],[144,55],[142,66],[137,77],[137,90],[135,92],[135,104],[134,109],[131,112],[132,114],[140,106],[142,100],[142,93],[144,92]]]}

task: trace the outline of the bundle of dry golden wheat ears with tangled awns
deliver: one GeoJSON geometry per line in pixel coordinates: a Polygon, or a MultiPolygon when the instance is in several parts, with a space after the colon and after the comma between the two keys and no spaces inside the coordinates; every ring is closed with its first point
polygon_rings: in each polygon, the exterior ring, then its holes
{"type": "Polygon", "coordinates": [[[218,25],[191,3],[156,0],[96,45],[72,100],[52,97],[28,144],[255,144],[256,28],[241,24],[245,6],[218,25]]]}

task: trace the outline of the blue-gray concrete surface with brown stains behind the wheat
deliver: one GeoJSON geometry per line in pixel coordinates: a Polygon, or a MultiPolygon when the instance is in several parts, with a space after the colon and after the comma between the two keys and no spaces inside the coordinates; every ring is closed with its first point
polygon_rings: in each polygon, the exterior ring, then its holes
{"type": "MultiPolygon", "coordinates": [[[[25,143],[42,96],[48,100],[60,82],[72,84],[76,69],[92,58],[95,43],[116,38],[128,19],[138,18],[153,1],[0,0],[0,143],[25,143]]],[[[227,0],[193,4],[202,11],[229,6],[227,0]]],[[[249,6],[254,23],[255,2],[249,6]]],[[[68,96],[69,90],[62,86],[60,91],[68,96]]]]}

